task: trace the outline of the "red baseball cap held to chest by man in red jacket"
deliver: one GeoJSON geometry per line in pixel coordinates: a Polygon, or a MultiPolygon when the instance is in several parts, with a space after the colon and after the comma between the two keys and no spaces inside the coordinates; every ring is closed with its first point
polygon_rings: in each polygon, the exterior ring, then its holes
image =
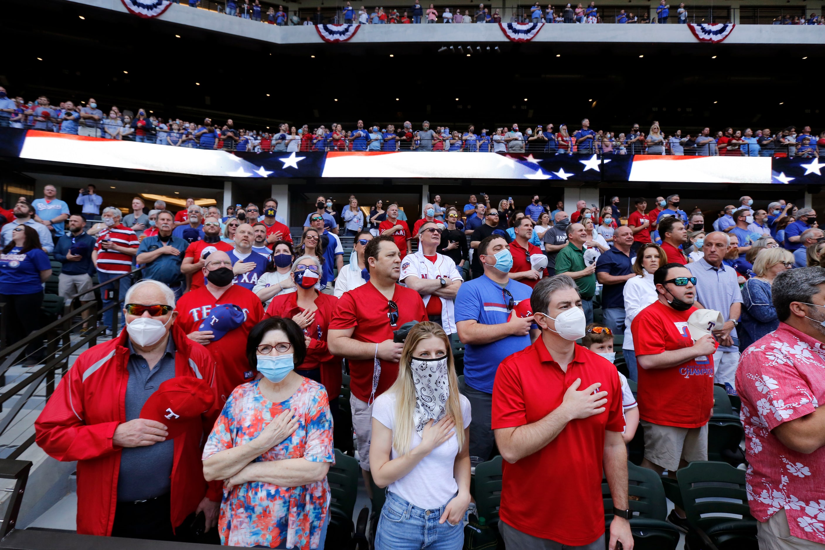
{"type": "Polygon", "coordinates": [[[140,410],[140,418],[158,421],[167,427],[167,440],[181,435],[191,421],[209,411],[214,393],[209,383],[191,376],[169,378],[158,386],[140,410]]]}

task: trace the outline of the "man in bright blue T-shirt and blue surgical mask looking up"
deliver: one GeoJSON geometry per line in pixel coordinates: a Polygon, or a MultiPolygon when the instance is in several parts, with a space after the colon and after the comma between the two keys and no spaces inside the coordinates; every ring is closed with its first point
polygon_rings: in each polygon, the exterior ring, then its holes
{"type": "Polygon", "coordinates": [[[530,299],[532,289],[509,278],[512,255],[507,240],[491,235],[476,249],[484,275],[461,285],[455,296],[455,327],[464,342],[464,388],[473,408],[469,454],[488,460],[493,452],[493,380],[498,364],[535,341],[540,331],[533,317],[513,313],[530,299]]]}

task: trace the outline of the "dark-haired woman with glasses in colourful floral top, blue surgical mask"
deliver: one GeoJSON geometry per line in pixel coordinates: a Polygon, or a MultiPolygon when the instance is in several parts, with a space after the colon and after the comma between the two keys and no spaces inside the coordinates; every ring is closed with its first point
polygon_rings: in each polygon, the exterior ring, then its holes
{"type": "Polygon", "coordinates": [[[295,373],[307,341],[283,317],[249,332],[247,360],[258,378],[229,396],[203,452],[206,480],[224,480],[218,523],[224,545],[324,546],[332,415],[323,386],[295,373]]]}

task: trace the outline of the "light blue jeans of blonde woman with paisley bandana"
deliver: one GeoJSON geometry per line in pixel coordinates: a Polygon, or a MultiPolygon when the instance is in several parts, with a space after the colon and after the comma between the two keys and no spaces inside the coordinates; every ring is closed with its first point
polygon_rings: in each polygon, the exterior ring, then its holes
{"type": "Polygon", "coordinates": [[[464,522],[438,523],[450,501],[436,509],[423,510],[387,491],[375,534],[375,550],[460,550],[464,545],[464,522]]]}

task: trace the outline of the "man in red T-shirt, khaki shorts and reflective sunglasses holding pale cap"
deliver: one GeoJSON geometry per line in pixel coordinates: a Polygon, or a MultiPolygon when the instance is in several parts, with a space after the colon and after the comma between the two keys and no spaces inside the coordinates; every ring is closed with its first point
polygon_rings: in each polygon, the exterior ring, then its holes
{"type": "MultiPolygon", "coordinates": [[[[694,341],[688,318],[697,311],[693,274],[670,263],[653,273],[658,300],[630,326],[639,364],[639,418],[644,427],[642,466],[676,479],[676,470],[708,459],[708,420],[714,408],[714,352],[709,334],[694,341]]],[[[686,527],[684,513],[667,519],[686,527]]]]}

